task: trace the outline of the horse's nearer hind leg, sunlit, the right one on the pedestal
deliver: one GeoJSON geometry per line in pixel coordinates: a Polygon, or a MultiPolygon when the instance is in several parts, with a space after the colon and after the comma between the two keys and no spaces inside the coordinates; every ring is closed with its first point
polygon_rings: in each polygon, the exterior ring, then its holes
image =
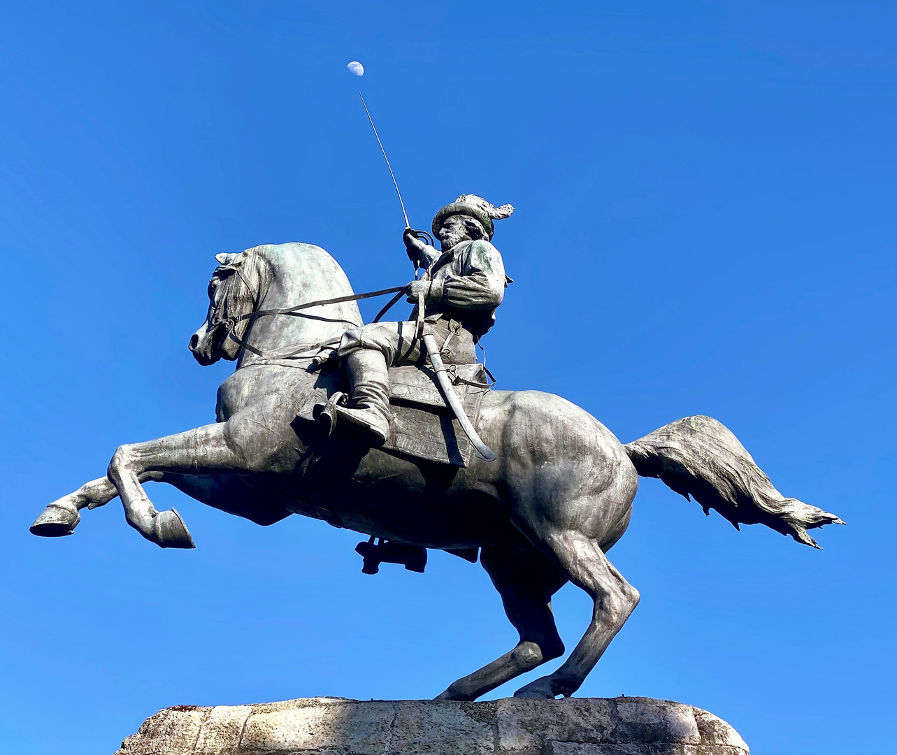
{"type": "Polygon", "coordinates": [[[515,692],[515,697],[569,697],[579,690],[588,673],[623,627],[635,606],[639,592],[607,560],[597,542],[568,531],[544,537],[570,581],[585,590],[595,601],[592,620],[570,657],[554,673],[536,679],[515,692]]]}

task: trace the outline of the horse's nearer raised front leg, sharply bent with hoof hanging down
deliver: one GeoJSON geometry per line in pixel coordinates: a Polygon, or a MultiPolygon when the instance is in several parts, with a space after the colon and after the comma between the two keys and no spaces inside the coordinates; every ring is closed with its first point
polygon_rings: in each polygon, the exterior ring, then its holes
{"type": "Polygon", "coordinates": [[[195,548],[177,511],[156,511],[152,506],[141,476],[266,471],[283,446],[271,424],[256,412],[239,412],[226,422],[118,447],[108,476],[121,496],[127,523],[162,548],[195,548]]]}

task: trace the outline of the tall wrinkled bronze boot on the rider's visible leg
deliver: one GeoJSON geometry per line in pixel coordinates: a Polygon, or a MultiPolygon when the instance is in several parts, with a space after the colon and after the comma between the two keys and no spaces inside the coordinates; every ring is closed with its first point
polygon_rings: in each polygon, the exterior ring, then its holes
{"type": "Polygon", "coordinates": [[[389,435],[389,373],[380,351],[356,349],[344,357],[352,408],[336,407],[337,424],[352,425],[355,438],[382,446],[389,435]]]}

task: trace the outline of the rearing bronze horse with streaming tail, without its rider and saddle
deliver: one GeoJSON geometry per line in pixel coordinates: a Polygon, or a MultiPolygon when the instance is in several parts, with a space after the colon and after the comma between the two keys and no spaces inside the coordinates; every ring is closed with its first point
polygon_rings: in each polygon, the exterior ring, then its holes
{"type": "Polygon", "coordinates": [[[335,371],[318,364],[321,348],[361,325],[356,302],[344,300],[353,291],[342,268],[300,243],[217,258],[208,314],[189,343],[202,365],[238,360],[218,389],[217,422],[118,447],[107,476],[49,504],[33,534],[72,534],[81,509],[118,496],[127,523],[147,540],[195,547],[177,511],[153,508],[143,488],[153,481],[259,525],[301,514],[389,542],[468,556],[479,549],[520,639],[438,698],[474,700],[563,655],[551,600],[568,581],[594,601],[588,629],[557,671],[515,694],[553,699],[579,689],[639,603],[605,555],[629,525],[639,475],[660,478],[736,528],[760,523],[814,547],[808,529],[843,524],[783,497],[710,417],[686,417],[623,445],[560,396],[491,390],[476,430],[497,454],[492,462],[442,464],[327,437],[297,407],[335,371]],[[272,315],[321,299],[343,300],[272,315]]]}

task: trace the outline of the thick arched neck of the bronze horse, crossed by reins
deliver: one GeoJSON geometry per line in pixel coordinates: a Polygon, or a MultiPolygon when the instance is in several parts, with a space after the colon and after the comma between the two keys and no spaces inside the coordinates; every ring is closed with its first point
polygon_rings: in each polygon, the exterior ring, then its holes
{"type": "MultiPolygon", "coordinates": [[[[343,269],[327,252],[310,244],[257,247],[258,309],[284,309],[353,293],[343,269]]],[[[301,310],[294,315],[259,317],[247,342],[259,351],[279,351],[297,344],[327,341],[346,328],[361,325],[354,301],[301,310]]],[[[257,360],[245,355],[245,364],[257,360]]]]}

